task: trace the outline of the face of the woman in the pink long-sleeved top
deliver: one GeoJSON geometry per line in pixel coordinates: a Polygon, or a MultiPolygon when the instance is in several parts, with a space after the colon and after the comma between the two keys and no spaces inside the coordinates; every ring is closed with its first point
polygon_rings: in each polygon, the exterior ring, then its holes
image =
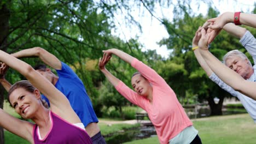
{"type": "Polygon", "coordinates": [[[141,74],[136,74],[131,79],[131,84],[135,92],[139,95],[147,97],[152,92],[152,86],[149,81],[145,79],[141,74]]]}

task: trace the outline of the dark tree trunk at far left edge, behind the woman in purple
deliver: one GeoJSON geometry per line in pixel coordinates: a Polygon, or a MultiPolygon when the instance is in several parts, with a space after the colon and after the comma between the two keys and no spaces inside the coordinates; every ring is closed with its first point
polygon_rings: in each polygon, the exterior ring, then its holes
{"type": "MultiPolygon", "coordinates": [[[[9,27],[9,10],[7,9],[7,5],[2,5],[2,0],[0,0],[0,49],[2,51],[6,51],[7,47],[2,47],[7,44],[7,35],[8,35],[8,27],[9,27]]],[[[5,89],[0,86],[0,108],[3,109],[4,102],[4,91],[5,89]]],[[[3,128],[0,127],[0,143],[4,143],[4,131],[3,128]]]]}

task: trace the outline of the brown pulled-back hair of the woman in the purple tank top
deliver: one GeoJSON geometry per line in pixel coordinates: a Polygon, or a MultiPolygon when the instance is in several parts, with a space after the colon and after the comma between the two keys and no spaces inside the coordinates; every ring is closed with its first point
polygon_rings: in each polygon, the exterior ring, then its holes
{"type": "MultiPolygon", "coordinates": [[[[10,94],[13,93],[13,91],[17,88],[24,88],[27,92],[30,92],[30,93],[33,93],[34,90],[36,90],[36,88],[27,80],[22,80],[22,81],[18,81],[18,82],[15,82],[9,89],[9,92],[8,92],[8,101],[10,103],[10,94]]],[[[45,100],[43,100],[42,98],[40,98],[40,100],[42,101],[42,104],[44,107],[46,107],[47,109],[49,108],[48,104],[46,103],[45,100]]],[[[10,103],[11,105],[11,103],[10,103]]]]}

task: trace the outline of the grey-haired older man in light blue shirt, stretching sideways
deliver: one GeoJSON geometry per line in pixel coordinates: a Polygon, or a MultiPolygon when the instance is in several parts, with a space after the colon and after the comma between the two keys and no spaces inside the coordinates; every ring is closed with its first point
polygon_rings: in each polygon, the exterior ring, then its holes
{"type": "MultiPolygon", "coordinates": [[[[256,62],[256,39],[253,35],[247,31],[246,28],[235,26],[233,23],[227,23],[223,27],[224,31],[235,35],[235,37],[240,38],[240,43],[245,47],[245,49],[252,55],[254,63],[256,62]]],[[[199,36],[195,35],[193,39],[193,47],[198,45],[199,36]]],[[[229,85],[226,85],[219,77],[213,73],[211,68],[207,65],[205,59],[201,56],[198,49],[194,49],[194,54],[197,61],[201,67],[206,71],[209,78],[217,83],[222,89],[229,92],[234,97],[237,97],[242,105],[245,107],[249,115],[253,118],[254,123],[256,123],[256,101],[243,95],[240,92],[235,91],[229,85]]],[[[248,81],[256,81],[256,65],[252,66],[249,59],[244,53],[238,50],[232,50],[226,53],[223,57],[223,63],[230,69],[236,71],[237,74],[241,75],[243,79],[248,81]]]]}

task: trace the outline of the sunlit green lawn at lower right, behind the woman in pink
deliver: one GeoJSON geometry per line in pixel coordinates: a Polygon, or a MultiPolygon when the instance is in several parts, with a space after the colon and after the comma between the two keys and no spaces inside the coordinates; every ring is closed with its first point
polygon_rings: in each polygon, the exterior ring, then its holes
{"type": "MultiPolygon", "coordinates": [[[[193,121],[199,130],[202,143],[256,143],[256,124],[248,114],[202,118],[193,121]]],[[[159,143],[158,137],[150,137],[131,143],[159,143]]]]}

